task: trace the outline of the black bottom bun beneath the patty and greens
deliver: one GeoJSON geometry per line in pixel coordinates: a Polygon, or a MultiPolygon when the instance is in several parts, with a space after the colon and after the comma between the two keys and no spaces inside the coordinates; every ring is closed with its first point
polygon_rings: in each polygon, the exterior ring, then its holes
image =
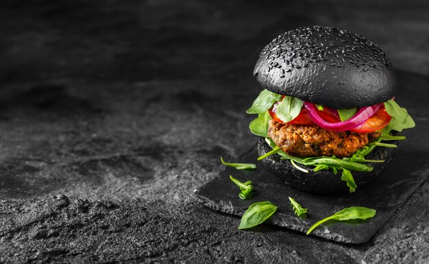
{"type": "MultiPolygon", "coordinates": [[[[395,144],[397,142],[392,143],[395,144]]],[[[258,143],[259,155],[262,156],[271,150],[272,148],[261,137],[258,143]]],[[[351,171],[358,189],[378,178],[384,168],[391,162],[394,151],[395,149],[391,147],[376,147],[365,158],[368,160],[384,160],[384,163],[365,163],[373,167],[372,171],[351,171]]],[[[341,171],[336,173],[336,175],[332,170],[313,171],[314,166],[305,166],[298,163],[299,167],[309,171],[305,173],[293,167],[290,160],[282,160],[278,154],[263,159],[262,163],[269,171],[275,173],[286,184],[290,184],[296,189],[320,194],[349,192],[347,183],[341,180],[341,171]]]]}

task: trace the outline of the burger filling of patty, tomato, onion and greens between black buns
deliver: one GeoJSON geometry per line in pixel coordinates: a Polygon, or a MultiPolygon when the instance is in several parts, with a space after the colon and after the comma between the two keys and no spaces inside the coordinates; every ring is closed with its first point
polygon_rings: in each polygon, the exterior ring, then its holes
{"type": "Polygon", "coordinates": [[[246,112],[258,114],[249,128],[273,149],[258,160],[278,154],[303,172],[308,169],[299,165],[313,171],[341,171],[351,193],[357,188],[351,171],[371,171],[373,167],[365,163],[384,162],[365,156],[374,147],[396,147],[389,141],[405,137],[391,131],[415,126],[407,110],[393,99],[363,108],[333,109],[264,90],[246,112]]]}

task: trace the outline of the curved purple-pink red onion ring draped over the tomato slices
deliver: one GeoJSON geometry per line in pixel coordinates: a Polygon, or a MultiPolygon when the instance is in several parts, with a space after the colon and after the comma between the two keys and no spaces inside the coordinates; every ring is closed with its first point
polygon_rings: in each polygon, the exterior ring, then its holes
{"type": "Polygon", "coordinates": [[[380,109],[381,104],[376,104],[373,106],[367,106],[360,108],[356,115],[354,115],[351,119],[348,119],[343,122],[330,123],[323,120],[315,109],[315,106],[309,101],[304,101],[304,107],[307,109],[308,115],[319,127],[324,128],[326,130],[340,132],[351,130],[352,128],[356,128],[358,125],[364,123],[372,117],[378,109],[380,109]]]}

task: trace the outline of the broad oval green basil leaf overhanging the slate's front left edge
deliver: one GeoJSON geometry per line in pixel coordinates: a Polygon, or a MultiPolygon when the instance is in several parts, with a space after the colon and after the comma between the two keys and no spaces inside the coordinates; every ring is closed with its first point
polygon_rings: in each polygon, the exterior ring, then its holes
{"type": "Polygon", "coordinates": [[[252,228],[258,226],[258,224],[262,224],[277,211],[277,208],[277,206],[268,201],[251,204],[243,217],[241,217],[238,229],[252,228]]]}

